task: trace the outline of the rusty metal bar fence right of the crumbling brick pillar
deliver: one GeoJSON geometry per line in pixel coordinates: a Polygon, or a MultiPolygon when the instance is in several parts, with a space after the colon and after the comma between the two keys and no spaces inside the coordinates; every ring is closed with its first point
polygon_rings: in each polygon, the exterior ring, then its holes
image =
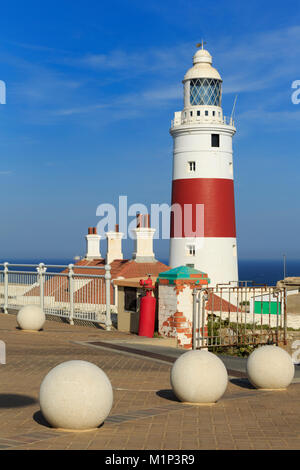
{"type": "Polygon", "coordinates": [[[193,349],[286,342],[286,289],[248,282],[194,289],[193,349]]]}

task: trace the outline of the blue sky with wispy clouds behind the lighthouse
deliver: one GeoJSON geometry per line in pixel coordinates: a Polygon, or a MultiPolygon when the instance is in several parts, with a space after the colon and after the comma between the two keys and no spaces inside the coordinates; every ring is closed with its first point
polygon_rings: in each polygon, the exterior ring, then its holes
{"type": "MultiPolygon", "coordinates": [[[[83,254],[101,203],[170,202],[174,111],[202,38],[234,97],[241,258],[300,258],[299,1],[11,1],[0,17],[0,258],[83,254]]],[[[124,243],[131,255],[133,242],[124,243]]],[[[156,241],[161,259],[167,241],[156,241]]],[[[102,243],[105,253],[105,243],[102,243]]]]}

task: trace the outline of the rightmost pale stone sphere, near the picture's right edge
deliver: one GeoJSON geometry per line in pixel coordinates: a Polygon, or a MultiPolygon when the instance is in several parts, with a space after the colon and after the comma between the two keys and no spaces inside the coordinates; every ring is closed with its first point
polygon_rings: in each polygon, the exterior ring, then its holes
{"type": "Polygon", "coordinates": [[[256,388],[286,388],[294,373],[291,356],[278,346],[261,346],[247,360],[248,379],[256,388]]]}

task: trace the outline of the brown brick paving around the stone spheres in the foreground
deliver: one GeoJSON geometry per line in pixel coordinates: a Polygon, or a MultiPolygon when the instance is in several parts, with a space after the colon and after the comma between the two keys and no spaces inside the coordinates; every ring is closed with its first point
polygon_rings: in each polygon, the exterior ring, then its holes
{"type": "Polygon", "coordinates": [[[259,391],[235,378],[216,405],[184,405],[170,390],[171,364],[78,344],[128,336],[51,321],[25,333],[15,316],[0,314],[0,449],[300,449],[300,384],[259,391]],[[97,364],[114,388],[110,416],[95,431],[56,431],[40,413],[44,376],[71,359],[97,364]]]}

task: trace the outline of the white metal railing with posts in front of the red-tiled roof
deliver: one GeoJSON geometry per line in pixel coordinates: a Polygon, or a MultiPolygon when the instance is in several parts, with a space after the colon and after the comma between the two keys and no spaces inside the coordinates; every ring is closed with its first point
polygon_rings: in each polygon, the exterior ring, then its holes
{"type": "Polygon", "coordinates": [[[46,314],[66,318],[71,325],[74,319],[87,320],[105,323],[110,330],[111,311],[116,305],[111,302],[115,290],[110,270],[108,264],[0,264],[0,307],[8,313],[8,309],[40,305],[46,314]],[[84,272],[87,269],[88,274],[84,272]],[[97,271],[92,274],[92,270],[97,271]]]}

